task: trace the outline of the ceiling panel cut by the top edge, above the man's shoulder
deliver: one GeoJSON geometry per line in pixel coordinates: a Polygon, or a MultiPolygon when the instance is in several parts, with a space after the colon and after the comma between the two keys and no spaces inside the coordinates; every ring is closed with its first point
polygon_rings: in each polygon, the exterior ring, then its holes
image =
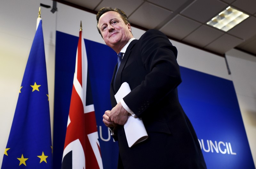
{"type": "Polygon", "coordinates": [[[159,5],[163,8],[169,9],[171,11],[177,10],[182,4],[184,4],[188,0],[148,0],[148,2],[151,2],[152,4],[159,5]]]}

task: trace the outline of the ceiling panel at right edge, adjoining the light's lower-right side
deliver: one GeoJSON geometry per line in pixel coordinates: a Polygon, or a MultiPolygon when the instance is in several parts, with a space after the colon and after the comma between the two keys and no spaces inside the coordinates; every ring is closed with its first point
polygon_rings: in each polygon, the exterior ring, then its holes
{"type": "Polygon", "coordinates": [[[256,34],[256,18],[250,17],[228,31],[229,34],[247,40],[256,34]]]}

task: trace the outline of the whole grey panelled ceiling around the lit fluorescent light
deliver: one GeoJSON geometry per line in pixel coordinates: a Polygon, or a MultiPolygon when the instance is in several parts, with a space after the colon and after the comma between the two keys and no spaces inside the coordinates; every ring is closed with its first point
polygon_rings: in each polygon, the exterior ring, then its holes
{"type": "Polygon", "coordinates": [[[144,30],[158,29],[170,39],[217,55],[232,48],[256,56],[255,0],[57,0],[97,13],[105,6],[123,10],[131,25],[144,30]],[[206,22],[231,6],[249,15],[228,32],[206,22]]]}

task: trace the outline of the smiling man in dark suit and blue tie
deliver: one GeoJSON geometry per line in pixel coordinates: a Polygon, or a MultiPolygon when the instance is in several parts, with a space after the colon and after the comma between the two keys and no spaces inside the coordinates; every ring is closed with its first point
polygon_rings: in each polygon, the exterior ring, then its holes
{"type": "Polygon", "coordinates": [[[196,133],[178,99],[177,49],[157,30],[135,40],[130,21],[119,9],[102,8],[96,18],[105,43],[117,54],[124,53],[111,81],[113,109],[103,115],[118,140],[118,168],[206,168],[196,133]],[[124,82],[132,91],[116,103],[114,95],[124,82]],[[147,140],[131,148],[123,127],[128,115],[141,118],[148,133],[147,140]]]}

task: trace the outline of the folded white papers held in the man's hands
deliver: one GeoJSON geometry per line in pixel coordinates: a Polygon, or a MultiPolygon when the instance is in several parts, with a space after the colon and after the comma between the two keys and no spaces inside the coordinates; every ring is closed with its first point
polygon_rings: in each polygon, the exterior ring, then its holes
{"type": "MultiPolygon", "coordinates": [[[[129,84],[124,82],[115,95],[116,102],[120,102],[120,100],[123,99],[130,92],[131,89],[129,84]]],[[[134,118],[129,115],[127,121],[124,124],[124,131],[128,146],[130,148],[133,145],[140,143],[148,138],[148,133],[145,129],[143,121],[138,117],[134,118]]]]}

